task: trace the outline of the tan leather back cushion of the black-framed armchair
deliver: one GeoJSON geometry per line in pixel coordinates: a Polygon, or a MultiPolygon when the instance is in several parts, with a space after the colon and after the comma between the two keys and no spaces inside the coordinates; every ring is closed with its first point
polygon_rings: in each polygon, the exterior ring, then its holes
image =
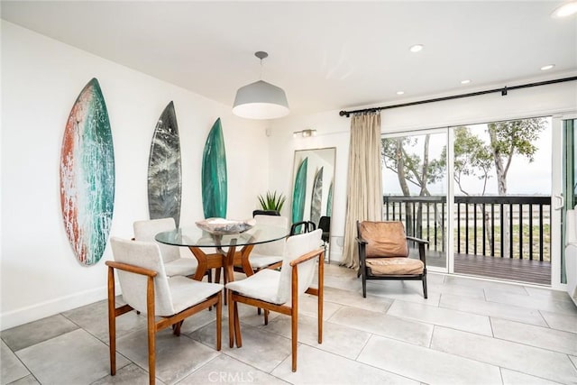
{"type": "Polygon", "coordinates": [[[359,224],[362,240],[367,242],[366,258],[408,257],[407,236],[402,222],[370,222],[359,224]]]}

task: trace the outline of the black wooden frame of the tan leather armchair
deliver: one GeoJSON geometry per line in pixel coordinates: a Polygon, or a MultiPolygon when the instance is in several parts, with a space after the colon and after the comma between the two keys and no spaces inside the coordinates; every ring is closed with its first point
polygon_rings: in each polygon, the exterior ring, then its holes
{"type": "Polygon", "coordinates": [[[426,292],[426,255],[425,245],[428,241],[414,236],[406,236],[407,241],[418,243],[418,257],[423,262],[425,267],[422,274],[390,274],[390,275],[371,275],[366,263],[366,246],[368,242],[361,237],[360,222],[357,221],[357,238],[359,245],[359,271],[357,277],[362,276],[362,297],[367,298],[367,280],[422,280],[423,281],[423,296],[427,298],[426,292]]]}

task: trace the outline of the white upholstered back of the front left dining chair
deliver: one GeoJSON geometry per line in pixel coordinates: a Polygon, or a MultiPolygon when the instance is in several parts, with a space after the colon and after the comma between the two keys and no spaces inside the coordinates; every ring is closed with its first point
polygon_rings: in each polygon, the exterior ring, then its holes
{"type": "MultiPolygon", "coordinates": [[[[157,243],[129,241],[117,237],[110,239],[114,261],[157,271],[154,278],[154,313],[156,316],[175,314],[170,297],[169,282],[160,257],[157,243]]],[[[148,277],[142,274],[117,270],[124,301],[146,314],[146,288],[148,277]]]]}

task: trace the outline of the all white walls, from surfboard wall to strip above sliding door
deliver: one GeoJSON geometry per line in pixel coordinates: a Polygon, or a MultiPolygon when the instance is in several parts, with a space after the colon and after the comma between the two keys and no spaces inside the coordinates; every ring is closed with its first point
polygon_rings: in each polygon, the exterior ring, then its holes
{"type": "MultiPolygon", "coordinates": [[[[341,260],[350,120],[329,111],[268,124],[231,115],[180,87],[98,58],[12,23],[2,28],[0,329],[105,298],[105,256],[83,267],[69,246],[60,215],[62,133],[78,93],[90,78],[102,87],[114,137],[116,191],[112,234],[130,237],[146,218],[151,135],[173,100],[183,166],[182,225],[202,217],[200,162],[206,134],[221,117],[228,162],[228,216],[243,218],[267,189],[288,197],[294,151],[336,147],[331,256],[341,260]],[[264,127],[270,136],[265,135],[264,127]],[[316,137],[292,132],[315,128],[316,137]],[[266,162],[268,160],[268,168],[266,162]]],[[[499,85],[502,86],[502,85],[499,85]]],[[[509,85],[511,86],[511,85],[509,85]]],[[[472,124],[577,109],[575,82],[383,111],[383,132],[472,124]]]]}

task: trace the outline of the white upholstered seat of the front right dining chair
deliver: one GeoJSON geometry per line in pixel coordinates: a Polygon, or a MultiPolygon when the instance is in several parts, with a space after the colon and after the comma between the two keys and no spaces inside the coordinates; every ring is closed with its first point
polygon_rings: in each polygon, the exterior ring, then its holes
{"type": "Polygon", "coordinates": [[[264,269],[246,278],[246,280],[229,282],[226,289],[234,290],[246,297],[282,305],[285,301],[279,298],[279,281],[280,271],[264,269]]]}

